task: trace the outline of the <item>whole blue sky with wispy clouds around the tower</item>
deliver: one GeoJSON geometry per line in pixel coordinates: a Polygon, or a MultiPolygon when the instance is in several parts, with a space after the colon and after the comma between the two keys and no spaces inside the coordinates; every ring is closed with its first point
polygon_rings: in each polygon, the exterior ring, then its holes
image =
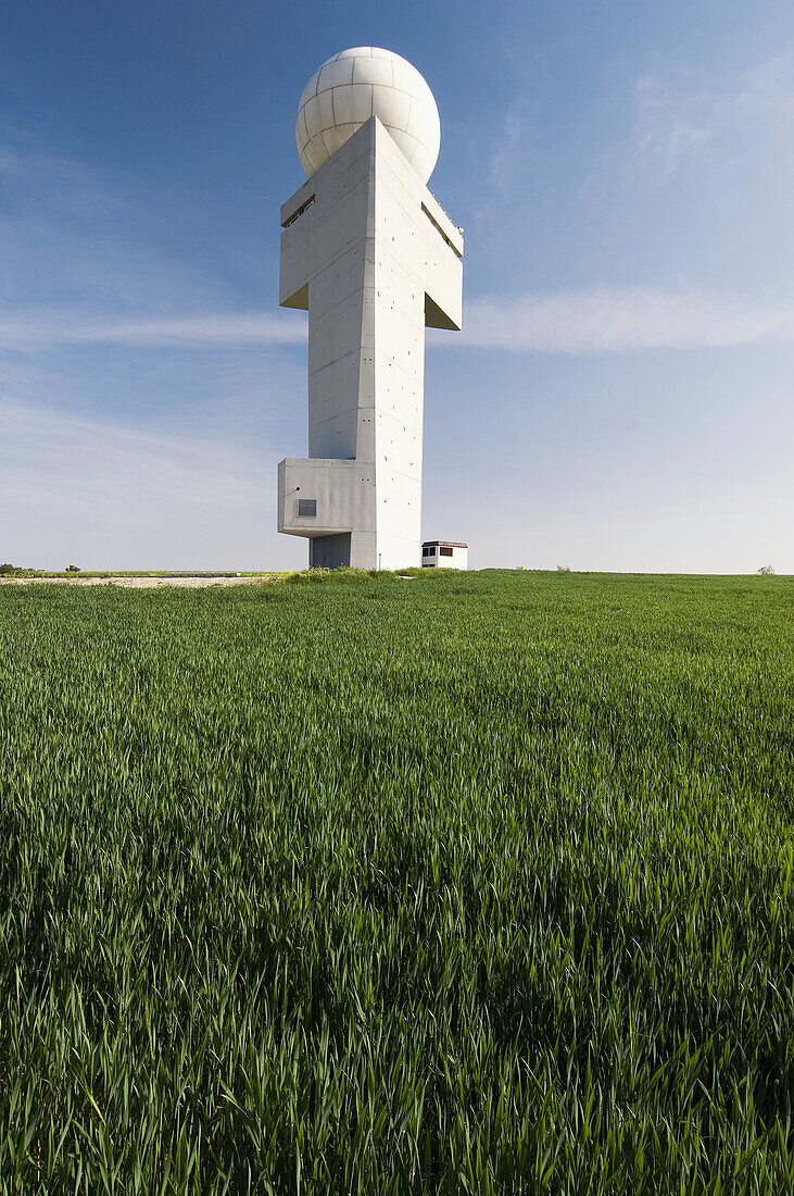
{"type": "Polygon", "coordinates": [[[794,573],[790,0],[7,4],[0,557],[289,568],[278,209],[325,59],[407,57],[464,227],[424,535],[470,565],[794,573]]]}

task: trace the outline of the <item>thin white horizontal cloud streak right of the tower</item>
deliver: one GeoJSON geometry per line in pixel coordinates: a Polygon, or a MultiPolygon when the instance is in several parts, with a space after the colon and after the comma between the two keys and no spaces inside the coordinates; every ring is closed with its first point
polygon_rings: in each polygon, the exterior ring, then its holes
{"type": "Polygon", "coordinates": [[[767,306],[707,292],[644,287],[474,301],[466,309],[460,338],[478,348],[540,353],[720,348],[761,341],[794,342],[794,301],[767,306]]]}

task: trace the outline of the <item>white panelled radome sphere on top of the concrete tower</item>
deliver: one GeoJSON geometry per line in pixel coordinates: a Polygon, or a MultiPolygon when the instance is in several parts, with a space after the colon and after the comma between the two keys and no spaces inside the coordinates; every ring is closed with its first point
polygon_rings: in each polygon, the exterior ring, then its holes
{"type": "Polygon", "coordinates": [[[416,67],[375,45],[336,54],[303,89],[295,140],[306,173],[319,170],[370,116],[386,126],[426,183],[441,148],[433,93],[416,67]]]}

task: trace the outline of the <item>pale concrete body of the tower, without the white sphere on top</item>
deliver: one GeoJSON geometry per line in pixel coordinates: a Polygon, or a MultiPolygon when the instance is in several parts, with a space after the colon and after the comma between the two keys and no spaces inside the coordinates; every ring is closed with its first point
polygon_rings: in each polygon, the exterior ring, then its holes
{"type": "Polygon", "coordinates": [[[279,465],[278,529],[349,531],[340,563],[418,565],[424,329],[461,327],[461,233],[377,117],[284,205],[282,224],[279,301],[309,311],[309,458],[279,465]],[[296,487],[318,499],[310,521],[296,487]]]}

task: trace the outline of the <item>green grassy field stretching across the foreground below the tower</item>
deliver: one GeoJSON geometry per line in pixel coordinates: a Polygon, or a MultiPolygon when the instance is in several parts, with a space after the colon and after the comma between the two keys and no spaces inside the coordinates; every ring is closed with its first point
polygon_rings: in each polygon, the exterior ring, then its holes
{"type": "Polygon", "coordinates": [[[0,590],[0,1190],[794,1191],[794,582],[0,590]]]}

